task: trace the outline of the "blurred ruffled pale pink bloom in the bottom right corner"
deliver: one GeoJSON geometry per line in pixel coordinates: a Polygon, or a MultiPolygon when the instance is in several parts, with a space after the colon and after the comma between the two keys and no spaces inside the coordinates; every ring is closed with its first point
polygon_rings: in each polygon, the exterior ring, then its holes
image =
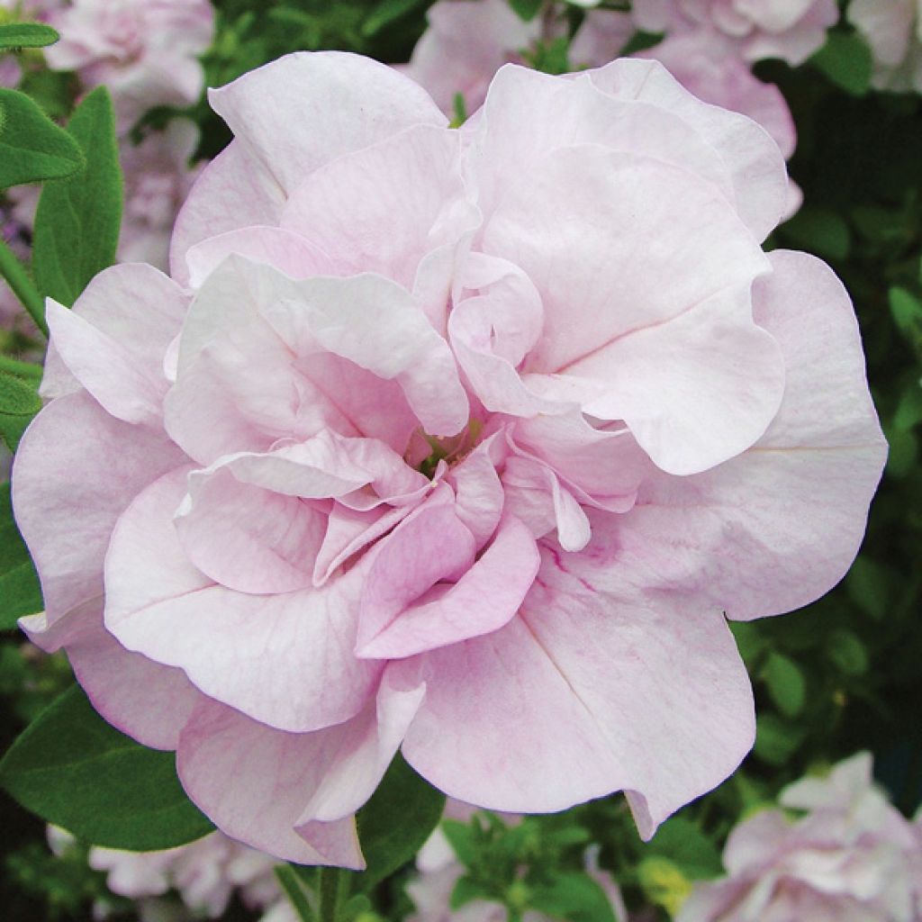
{"type": "Polygon", "coordinates": [[[727,877],[697,884],[676,922],[915,922],[922,833],[873,785],[860,752],[782,791],[727,840],[727,877]],[[792,820],[792,811],[804,811],[792,820]]]}

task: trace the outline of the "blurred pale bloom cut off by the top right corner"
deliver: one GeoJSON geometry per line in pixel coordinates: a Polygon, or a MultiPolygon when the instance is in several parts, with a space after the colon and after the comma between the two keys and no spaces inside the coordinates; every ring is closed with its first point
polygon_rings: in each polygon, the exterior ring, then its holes
{"type": "Polygon", "coordinates": [[[874,55],[872,86],[922,93],[922,0],[852,0],[848,20],[874,55]]]}

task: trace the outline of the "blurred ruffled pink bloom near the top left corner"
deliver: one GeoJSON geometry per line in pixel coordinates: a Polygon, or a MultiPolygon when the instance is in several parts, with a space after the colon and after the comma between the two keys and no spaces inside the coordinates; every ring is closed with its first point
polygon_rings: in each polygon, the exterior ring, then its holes
{"type": "Polygon", "coordinates": [[[205,75],[197,56],[214,31],[208,0],[74,0],[49,18],[61,41],[45,51],[54,70],[112,92],[124,133],[154,106],[190,106],[205,75]]]}

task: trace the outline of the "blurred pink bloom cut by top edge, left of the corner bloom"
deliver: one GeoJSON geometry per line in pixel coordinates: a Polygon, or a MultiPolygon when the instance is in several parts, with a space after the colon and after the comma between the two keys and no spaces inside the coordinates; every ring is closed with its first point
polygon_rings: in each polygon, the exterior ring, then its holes
{"type": "Polygon", "coordinates": [[[668,35],[707,30],[746,61],[803,64],[839,18],[835,0],[633,0],[637,25],[668,35]]]}

